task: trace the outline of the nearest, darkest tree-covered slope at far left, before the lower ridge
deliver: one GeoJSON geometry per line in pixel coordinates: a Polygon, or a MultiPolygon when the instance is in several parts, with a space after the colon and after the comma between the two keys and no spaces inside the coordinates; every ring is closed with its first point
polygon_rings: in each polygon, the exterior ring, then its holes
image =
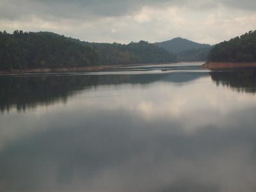
{"type": "Polygon", "coordinates": [[[51,33],[0,33],[0,68],[97,65],[97,52],[51,33]]]}

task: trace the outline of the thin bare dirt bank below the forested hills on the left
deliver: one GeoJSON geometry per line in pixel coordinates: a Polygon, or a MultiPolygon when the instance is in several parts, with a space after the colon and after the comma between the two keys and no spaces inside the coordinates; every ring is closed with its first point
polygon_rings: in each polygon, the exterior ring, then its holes
{"type": "Polygon", "coordinates": [[[120,65],[92,66],[92,67],[58,67],[58,68],[26,68],[0,70],[0,74],[28,74],[45,72],[95,72],[120,67],[120,65]]]}

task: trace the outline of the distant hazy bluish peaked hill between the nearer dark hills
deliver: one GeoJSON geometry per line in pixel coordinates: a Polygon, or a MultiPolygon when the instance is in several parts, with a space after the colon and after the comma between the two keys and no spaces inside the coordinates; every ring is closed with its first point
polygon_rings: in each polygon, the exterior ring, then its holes
{"type": "Polygon", "coordinates": [[[157,42],[155,45],[177,54],[177,61],[206,61],[212,48],[211,45],[198,44],[180,37],[165,42],[157,42]]]}

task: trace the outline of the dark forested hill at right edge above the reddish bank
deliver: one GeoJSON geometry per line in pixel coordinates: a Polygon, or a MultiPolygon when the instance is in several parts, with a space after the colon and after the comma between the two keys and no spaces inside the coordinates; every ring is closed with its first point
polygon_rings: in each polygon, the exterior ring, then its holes
{"type": "Polygon", "coordinates": [[[209,53],[208,61],[255,62],[256,31],[249,31],[240,37],[215,45],[209,53]]]}

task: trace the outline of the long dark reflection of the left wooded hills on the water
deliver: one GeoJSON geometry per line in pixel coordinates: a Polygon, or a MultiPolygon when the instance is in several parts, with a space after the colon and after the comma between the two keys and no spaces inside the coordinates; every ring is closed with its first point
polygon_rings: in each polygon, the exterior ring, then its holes
{"type": "Polygon", "coordinates": [[[157,81],[184,83],[205,76],[204,73],[141,74],[141,75],[104,75],[86,74],[49,76],[2,76],[0,77],[0,109],[26,111],[36,106],[51,106],[58,102],[67,102],[82,90],[97,89],[101,85],[140,84],[157,81]]]}

